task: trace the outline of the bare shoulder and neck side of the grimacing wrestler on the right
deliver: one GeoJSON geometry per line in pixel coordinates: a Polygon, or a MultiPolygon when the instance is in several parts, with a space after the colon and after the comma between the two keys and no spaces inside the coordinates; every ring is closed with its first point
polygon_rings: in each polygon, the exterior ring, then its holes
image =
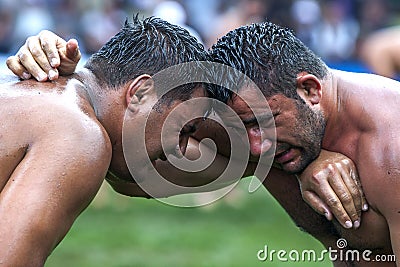
{"type": "Polygon", "coordinates": [[[322,146],[354,160],[371,207],[360,229],[339,233],[350,247],[387,254],[393,250],[400,258],[400,83],[340,71],[333,77],[334,86],[322,90],[321,107],[333,109],[322,146]]]}

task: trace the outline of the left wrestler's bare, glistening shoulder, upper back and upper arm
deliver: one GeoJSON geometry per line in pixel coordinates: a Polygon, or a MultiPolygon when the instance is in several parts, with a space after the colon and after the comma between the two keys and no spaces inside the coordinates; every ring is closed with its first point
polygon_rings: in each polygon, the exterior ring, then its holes
{"type": "Polygon", "coordinates": [[[111,145],[79,87],[15,80],[0,85],[0,259],[40,266],[95,196],[111,145]]]}

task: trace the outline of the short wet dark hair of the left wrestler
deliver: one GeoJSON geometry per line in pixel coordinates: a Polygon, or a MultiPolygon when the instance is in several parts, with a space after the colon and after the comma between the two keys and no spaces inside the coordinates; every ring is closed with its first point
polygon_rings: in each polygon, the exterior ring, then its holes
{"type": "MultiPolygon", "coordinates": [[[[89,58],[85,68],[101,85],[116,89],[141,74],[154,75],[176,64],[208,59],[203,45],[187,30],[160,18],[140,20],[134,15],[133,22],[125,21],[123,28],[89,58]]],[[[179,75],[184,79],[184,73],[179,75]]],[[[186,100],[198,85],[179,86],[168,98],[186,100]]]]}

